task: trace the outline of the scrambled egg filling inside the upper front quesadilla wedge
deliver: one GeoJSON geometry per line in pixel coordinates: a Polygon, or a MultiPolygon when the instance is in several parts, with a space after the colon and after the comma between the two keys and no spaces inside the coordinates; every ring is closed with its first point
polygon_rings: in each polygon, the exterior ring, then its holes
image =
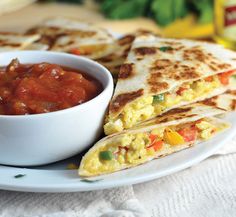
{"type": "Polygon", "coordinates": [[[214,89],[222,86],[218,76],[212,76],[212,80],[204,79],[186,83],[181,88],[163,94],[163,99],[154,100],[155,96],[143,96],[127,105],[122,113],[115,119],[108,117],[104,125],[106,135],[120,132],[123,129],[133,127],[139,122],[145,121],[162,113],[162,111],[184,101],[193,101],[199,97],[207,96],[214,89]]]}

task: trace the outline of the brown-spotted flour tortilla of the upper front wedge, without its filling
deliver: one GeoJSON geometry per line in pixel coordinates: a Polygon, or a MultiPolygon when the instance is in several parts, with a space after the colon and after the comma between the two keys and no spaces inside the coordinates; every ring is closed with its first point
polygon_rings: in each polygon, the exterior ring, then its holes
{"type": "MultiPolygon", "coordinates": [[[[235,52],[212,43],[139,35],[121,67],[108,115],[118,117],[126,105],[140,97],[171,92],[185,82],[235,70],[235,57],[235,52]],[[163,47],[170,49],[163,51],[163,47]]],[[[223,93],[227,88],[219,88],[212,94],[223,93]]],[[[174,107],[212,97],[212,94],[174,107]]]]}

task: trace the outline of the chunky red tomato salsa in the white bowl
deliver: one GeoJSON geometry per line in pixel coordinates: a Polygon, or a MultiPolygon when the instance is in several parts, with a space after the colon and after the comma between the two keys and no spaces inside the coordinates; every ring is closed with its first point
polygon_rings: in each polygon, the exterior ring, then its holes
{"type": "Polygon", "coordinates": [[[20,64],[14,59],[0,68],[1,115],[58,111],[84,103],[101,91],[96,79],[55,64],[20,64]]]}

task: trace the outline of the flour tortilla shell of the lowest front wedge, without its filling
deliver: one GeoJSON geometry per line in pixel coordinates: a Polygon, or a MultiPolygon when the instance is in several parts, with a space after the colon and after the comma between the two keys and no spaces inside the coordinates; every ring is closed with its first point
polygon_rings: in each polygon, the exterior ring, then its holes
{"type": "MultiPolygon", "coordinates": [[[[80,167],[79,167],[79,175],[80,176],[96,176],[96,175],[102,175],[110,172],[94,172],[91,173],[90,171],[85,169],[85,162],[87,159],[90,159],[91,156],[93,156],[94,153],[98,153],[99,150],[101,150],[103,147],[105,147],[107,144],[112,144],[113,141],[117,140],[119,137],[122,137],[125,134],[134,134],[134,133],[142,133],[142,132],[150,132],[153,129],[157,128],[163,128],[163,127],[170,127],[170,126],[175,126],[179,124],[184,124],[184,123],[191,123],[197,120],[200,120],[202,118],[207,118],[211,123],[214,124],[214,126],[218,126],[222,129],[226,129],[229,127],[229,124],[222,121],[218,120],[216,118],[213,118],[215,115],[223,114],[225,113],[224,109],[220,109],[214,106],[208,106],[204,105],[202,103],[195,103],[192,105],[186,105],[181,108],[173,109],[166,114],[163,114],[161,116],[158,116],[157,118],[154,118],[152,120],[146,121],[145,123],[142,123],[133,129],[125,130],[120,133],[112,134],[109,135],[102,140],[98,141],[83,157],[80,167]]],[[[213,135],[214,136],[214,135],[213,135]]],[[[112,172],[120,171],[123,169],[135,167],[139,164],[146,163],[150,160],[153,160],[154,158],[160,158],[169,154],[172,154],[174,152],[189,148],[193,145],[198,144],[199,142],[202,142],[201,140],[197,140],[194,143],[185,143],[183,145],[177,145],[173,146],[171,148],[168,148],[166,150],[162,150],[156,153],[156,156],[150,157],[145,160],[145,162],[139,162],[137,164],[122,164],[119,168],[112,172]]]]}

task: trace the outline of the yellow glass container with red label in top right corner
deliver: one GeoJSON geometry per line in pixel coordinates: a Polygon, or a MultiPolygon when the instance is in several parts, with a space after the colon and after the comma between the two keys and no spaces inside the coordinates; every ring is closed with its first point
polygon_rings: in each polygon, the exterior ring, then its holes
{"type": "Polygon", "coordinates": [[[215,41],[236,50],[236,0],[214,1],[214,25],[215,41]]]}

